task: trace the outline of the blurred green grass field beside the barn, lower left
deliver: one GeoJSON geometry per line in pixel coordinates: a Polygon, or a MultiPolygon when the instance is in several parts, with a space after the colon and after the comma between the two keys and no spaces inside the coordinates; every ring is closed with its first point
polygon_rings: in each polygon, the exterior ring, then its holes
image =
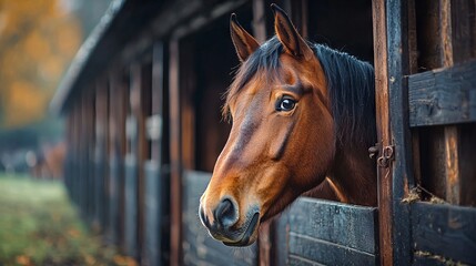
{"type": "Polygon", "coordinates": [[[135,265],[79,219],[60,182],[0,173],[0,266],[135,265]]]}

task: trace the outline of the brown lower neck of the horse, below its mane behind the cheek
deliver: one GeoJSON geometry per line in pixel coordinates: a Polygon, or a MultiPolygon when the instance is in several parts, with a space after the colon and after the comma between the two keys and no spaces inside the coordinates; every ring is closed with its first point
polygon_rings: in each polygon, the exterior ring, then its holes
{"type": "Polygon", "coordinates": [[[342,202],[377,205],[375,160],[367,154],[364,145],[337,149],[328,178],[342,202]]]}

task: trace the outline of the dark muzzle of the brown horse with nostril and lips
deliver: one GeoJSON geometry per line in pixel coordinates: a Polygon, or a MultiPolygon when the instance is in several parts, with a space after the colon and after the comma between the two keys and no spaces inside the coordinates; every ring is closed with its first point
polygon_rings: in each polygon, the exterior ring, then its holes
{"type": "Polygon", "coordinates": [[[249,246],[256,241],[256,232],[260,225],[257,207],[251,207],[244,215],[242,223],[240,223],[237,204],[230,197],[223,198],[211,212],[213,217],[209,217],[206,213],[201,205],[199,209],[200,219],[213,238],[227,246],[249,246]]]}

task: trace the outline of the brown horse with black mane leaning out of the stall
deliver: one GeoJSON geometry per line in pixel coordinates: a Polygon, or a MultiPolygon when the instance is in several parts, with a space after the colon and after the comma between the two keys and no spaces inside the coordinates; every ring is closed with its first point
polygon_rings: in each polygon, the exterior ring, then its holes
{"type": "Polygon", "coordinates": [[[304,41],[272,9],[276,37],[262,45],[231,17],[242,62],[224,106],[233,125],[199,211],[225,245],[252,244],[260,223],[305,192],[376,205],[372,65],[304,41]]]}

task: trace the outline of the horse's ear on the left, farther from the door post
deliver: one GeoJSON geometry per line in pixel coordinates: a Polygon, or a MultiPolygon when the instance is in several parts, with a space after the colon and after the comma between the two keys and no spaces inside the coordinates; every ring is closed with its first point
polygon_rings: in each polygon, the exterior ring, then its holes
{"type": "Polygon", "coordinates": [[[230,31],[233,44],[241,62],[244,62],[259,47],[256,40],[237,22],[236,14],[230,18],[230,31]]]}

